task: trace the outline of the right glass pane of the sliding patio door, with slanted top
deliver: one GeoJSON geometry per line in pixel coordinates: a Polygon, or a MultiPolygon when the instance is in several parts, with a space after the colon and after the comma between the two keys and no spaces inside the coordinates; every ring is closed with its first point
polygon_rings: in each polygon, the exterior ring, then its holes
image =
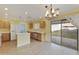
{"type": "Polygon", "coordinates": [[[77,28],[68,21],[62,21],[62,45],[77,49],[77,28]]]}

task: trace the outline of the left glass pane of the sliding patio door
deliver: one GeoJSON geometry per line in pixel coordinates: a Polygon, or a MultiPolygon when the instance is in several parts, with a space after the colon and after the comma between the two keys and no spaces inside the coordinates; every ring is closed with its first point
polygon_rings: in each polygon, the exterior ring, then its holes
{"type": "Polygon", "coordinates": [[[51,42],[61,44],[61,21],[51,22],[51,42]]]}

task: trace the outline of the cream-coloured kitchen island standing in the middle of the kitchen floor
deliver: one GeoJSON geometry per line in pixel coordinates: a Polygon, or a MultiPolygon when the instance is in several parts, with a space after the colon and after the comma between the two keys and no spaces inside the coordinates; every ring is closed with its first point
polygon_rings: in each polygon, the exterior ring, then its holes
{"type": "Polygon", "coordinates": [[[30,34],[27,32],[17,33],[17,47],[30,44],[30,34]]]}

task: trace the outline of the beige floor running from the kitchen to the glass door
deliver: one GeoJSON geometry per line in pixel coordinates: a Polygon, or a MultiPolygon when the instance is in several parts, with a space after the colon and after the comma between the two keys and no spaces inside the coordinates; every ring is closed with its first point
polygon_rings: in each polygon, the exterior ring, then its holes
{"type": "Polygon", "coordinates": [[[76,50],[54,43],[32,41],[31,44],[16,48],[16,41],[5,42],[0,48],[1,55],[77,55],[76,50]]]}

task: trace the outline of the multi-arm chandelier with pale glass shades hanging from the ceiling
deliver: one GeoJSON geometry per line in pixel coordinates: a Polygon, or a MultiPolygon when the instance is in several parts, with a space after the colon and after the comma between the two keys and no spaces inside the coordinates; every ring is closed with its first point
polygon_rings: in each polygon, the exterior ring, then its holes
{"type": "Polygon", "coordinates": [[[50,4],[50,6],[45,6],[45,8],[47,9],[45,17],[52,18],[59,16],[59,8],[52,8],[52,4],[50,4]]]}

